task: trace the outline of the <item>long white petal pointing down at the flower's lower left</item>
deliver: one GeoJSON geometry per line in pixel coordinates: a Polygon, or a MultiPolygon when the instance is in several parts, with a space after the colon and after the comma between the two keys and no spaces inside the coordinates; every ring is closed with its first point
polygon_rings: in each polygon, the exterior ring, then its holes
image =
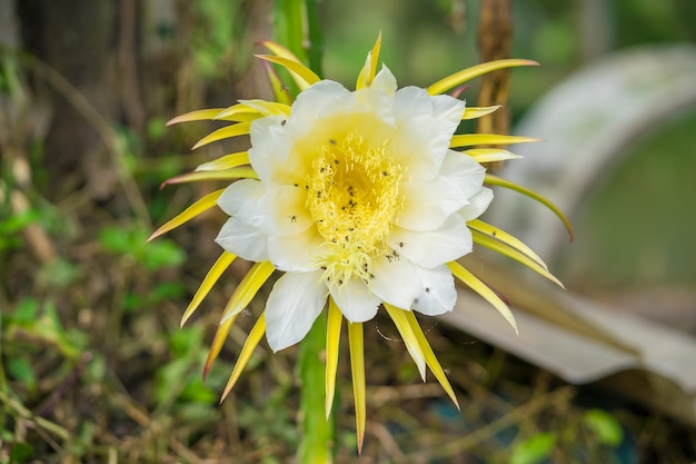
{"type": "Polygon", "coordinates": [[[288,273],[266,302],[266,338],[274,352],[295,345],[324,309],[327,288],[321,273],[288,273]]]}

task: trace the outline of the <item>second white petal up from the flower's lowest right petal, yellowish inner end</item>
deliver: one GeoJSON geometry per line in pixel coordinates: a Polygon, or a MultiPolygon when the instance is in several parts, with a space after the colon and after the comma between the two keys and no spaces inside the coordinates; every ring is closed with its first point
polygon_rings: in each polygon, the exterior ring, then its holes
{"type": "Polygon", "coordinates": [[[447,177],[410,180],[400,187],[404,210],[396,224],[411,230],[432,230],[468,203],[459,186],[447,177]]]}

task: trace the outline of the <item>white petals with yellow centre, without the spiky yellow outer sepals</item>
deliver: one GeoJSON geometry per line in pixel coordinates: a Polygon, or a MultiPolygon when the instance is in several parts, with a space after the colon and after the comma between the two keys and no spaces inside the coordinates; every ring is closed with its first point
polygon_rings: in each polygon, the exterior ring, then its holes
{"type": "Polygon", "coordinates": [[[370,87],[322,80],[289,117],[251,122],[258,180],[222,192],[230,218],[216,241],[286,273],[266,305],[274,351],[305,337],[328,295],[351,323],[371,319],[382,302],[427,315],[453,309],[447,263],[471,251],[466,223],[493,199],[484,168],[449,148],[464,111],[449,96],[397,90],[384,67],[370,87]]]}

